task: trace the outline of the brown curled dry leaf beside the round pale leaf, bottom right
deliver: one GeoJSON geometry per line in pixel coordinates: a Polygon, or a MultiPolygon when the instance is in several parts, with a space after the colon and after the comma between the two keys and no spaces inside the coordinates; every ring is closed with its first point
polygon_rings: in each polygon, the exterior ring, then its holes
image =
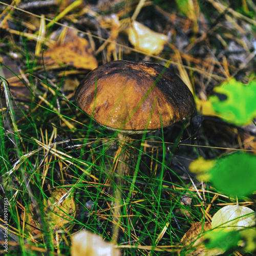
{"type": "Polygon", "coordinates": [[[214,256],[222,254],[223,251],[221,251],[218,248],[213,249],[206,249],[203,242],[205,240],[204,238],[204,232],[211,229],[211,223],[205,222],[204,226],[201,222],[194,222],[191,224],[191,227],[189,230],[184,234],[183,238],[181,239],[181,243],[187,247],[186,250],[189,252],[186,252],[186,256],[192,256],[192,255],[200,255],[200,256],[214,256]]]}

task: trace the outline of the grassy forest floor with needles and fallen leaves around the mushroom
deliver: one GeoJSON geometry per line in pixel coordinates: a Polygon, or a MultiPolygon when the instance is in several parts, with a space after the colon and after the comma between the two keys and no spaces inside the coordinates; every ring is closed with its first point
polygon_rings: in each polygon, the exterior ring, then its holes
{"type": "Polygon", "coordinates": [[[0,10],[1,253],[254,255],[252,0],[7,0],[0,10]],[[123,148],[74,97],[119,59],[168,66],[197,113],[123,148]],[[131,159],[120,177],[121,151],[131,159]],[[83,230],[110,243],[80,241],[83,230]]]}

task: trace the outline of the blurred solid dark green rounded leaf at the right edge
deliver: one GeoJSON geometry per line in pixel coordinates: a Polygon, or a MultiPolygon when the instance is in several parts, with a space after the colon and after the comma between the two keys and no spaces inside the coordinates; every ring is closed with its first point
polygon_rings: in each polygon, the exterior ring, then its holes
{"type": "Polygon", "coordinates": [[[256,156],[234,153],[220,158],[210,172],[210,180],[231,196],[246,196],[256,191],[256,156]]]}

